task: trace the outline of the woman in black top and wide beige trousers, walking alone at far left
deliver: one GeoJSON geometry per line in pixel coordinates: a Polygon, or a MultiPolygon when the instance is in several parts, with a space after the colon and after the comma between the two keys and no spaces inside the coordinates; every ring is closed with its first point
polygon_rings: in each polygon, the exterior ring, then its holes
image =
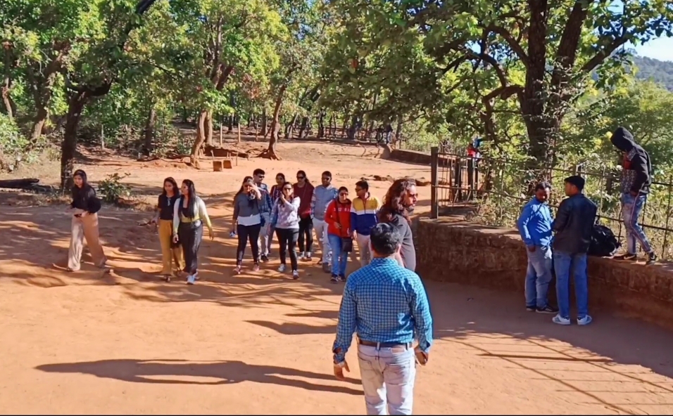
{"type": "Polygon", "coordinates": [[[72,235],[68,249],[68,271],[80,270],[83,240],[87,240],[94,264],[104,268],[106,256],[99,240],[98,212],[101,209],[101,200],[96,197],[96,190],[87,182],[87,174],[77,169],[73,174],[73,202],[66,210],[73,214],[72,235]]]}

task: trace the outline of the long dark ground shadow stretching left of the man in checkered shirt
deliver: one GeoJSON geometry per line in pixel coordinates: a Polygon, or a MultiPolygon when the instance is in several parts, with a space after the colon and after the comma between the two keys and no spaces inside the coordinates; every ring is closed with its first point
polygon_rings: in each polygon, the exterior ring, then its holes
{"type": "MultiPolygon", "coordinates": [[[[242,361],[99,360],[82,363],[45,364],[37,366],[36,369],[44,372],[79,372],[133,383],[218,385],[249,381],[293,386],[314,391],[363,394],[361,390],[351,389],[348,386],[313,384],[303,380],[285,378],[304,377],[335,381],[336,379],[332,375],[273,365],[246,364],[242,361]],[[179,379],[180,377],[211,377],[219,380],[196,381],[179,379]]],[[[348,379],[347,383],[360,384],[356,379],[348,379]]]]}

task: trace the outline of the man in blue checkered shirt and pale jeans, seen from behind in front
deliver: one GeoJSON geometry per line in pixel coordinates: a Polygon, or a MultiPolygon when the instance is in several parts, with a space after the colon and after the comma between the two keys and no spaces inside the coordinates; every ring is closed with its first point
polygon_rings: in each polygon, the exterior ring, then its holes
{"type": "Polygon", "coordinates": [[[416,361],[427,363],[432,316],[423,283],[395,259],[402,235],[379,223],[370,234],[372,262],[348,276],[334,341],[334,375],[344,380],[346,351],[358,334],[367,415],[411,415],[416,361]],[[413,348],[413,341],[417,346],[413,348]]]}

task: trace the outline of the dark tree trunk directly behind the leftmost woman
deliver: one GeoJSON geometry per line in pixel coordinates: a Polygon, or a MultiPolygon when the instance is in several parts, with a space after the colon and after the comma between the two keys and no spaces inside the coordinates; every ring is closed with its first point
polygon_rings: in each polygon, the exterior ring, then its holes
{"type": "Polygon", "coordinates": [[[63,132],[63,143],[61,143],[61,189],[63,190],[73,187],[77,127],[80,124],[84,105],[88,100],[88,93],[80,91],[71,93],[68,98],[68,114],[65,115],[65,131],[63,132]]]}

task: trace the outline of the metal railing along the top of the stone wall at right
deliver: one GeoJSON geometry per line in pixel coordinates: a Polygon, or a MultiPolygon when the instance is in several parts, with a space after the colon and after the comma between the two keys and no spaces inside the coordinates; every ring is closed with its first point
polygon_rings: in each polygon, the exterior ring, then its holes
{"type": "MultiPolygon", "coordinates": [[[[448,207],[471,207],[474,221],[493,226],[515,226],[523,205],[530,200],[525,195],[529,171],[524,164],[441,152],[438,147],[432,148],[430,154],[432,218],[438,218],[448,207]]],[[[612,228],[624,247],[626,232],[619,202],[622,193],[618,171],[610,171],[607,167],[591,171],[581,165],[546,167],[545,170],[546,176],[551,178],[550,205],[554,208],[565,197],[563,180],[570,175],[583,176],[586,181],[584,193],[598,206],[600,223],[612,228]]],[[[669,228],[673,226],[670,224],[672,191],[673,178],[665,182],[653,181],[639,219],[648,240],[662,259],[673,257],[673,247],[669,247],[673,233],[673,228],[669,228]]]]}

